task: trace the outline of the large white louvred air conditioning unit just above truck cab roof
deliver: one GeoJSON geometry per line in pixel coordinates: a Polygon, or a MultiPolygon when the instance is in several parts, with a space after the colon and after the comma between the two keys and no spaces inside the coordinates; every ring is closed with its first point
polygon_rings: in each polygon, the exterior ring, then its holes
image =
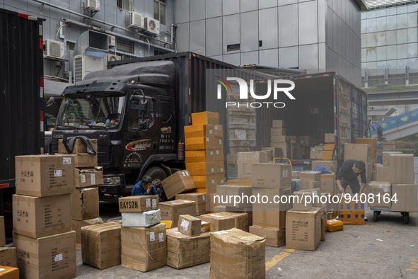
{"type": "Polygon", "coordinates": [[[83,80],[86,74],[100,71],[107,68],[105,57],[95,57],[91,55],[74,56],[74,82],[83,80]]]}

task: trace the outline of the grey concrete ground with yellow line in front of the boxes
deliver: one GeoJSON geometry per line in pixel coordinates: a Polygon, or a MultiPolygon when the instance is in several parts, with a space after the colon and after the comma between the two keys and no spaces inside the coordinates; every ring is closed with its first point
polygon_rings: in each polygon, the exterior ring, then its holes
{"type": "MultiPolygon", "coordinates": [[[[106,215],[115,217],[110,212],[106,215]]],[[[343,231],[327,232],[316,251],[267,246],[266,277],[418,278],[418,214],[410,214],[409,224],[399,212],[382,212],[378,222],[373,222],[373,211],[366,210],[366,216],[364,226],[346,225],[343,231]]],[[[209,278],[209,268],[210,263],[204,263],[181,270],[165,266],[147,273],[122,266],[100,271],[83,265],[77,251],[77,278],[209,278]]]]}

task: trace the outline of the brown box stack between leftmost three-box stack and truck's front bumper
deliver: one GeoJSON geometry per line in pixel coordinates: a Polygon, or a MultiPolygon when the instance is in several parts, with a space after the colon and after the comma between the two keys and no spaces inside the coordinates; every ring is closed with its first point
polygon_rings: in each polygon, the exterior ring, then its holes
{"type": "MultiPolygon", "coordinates": [[[[97,139],[91,139],[93,149],[98,151],[97,139]]],[[[59,140],[59,154],[68,154],[59,140]]],[[[97,156],[86,153],[86,146],[80,139],[74,142],[71,154],[87,160],[76,160],[74,170],[74,191],[71,194],[71,223],[76,232],[76,244],[81,245],[81,227],[103,223],[99,216],[98,185],[103,184],[103,168],[97,166],[97,156]]]]}

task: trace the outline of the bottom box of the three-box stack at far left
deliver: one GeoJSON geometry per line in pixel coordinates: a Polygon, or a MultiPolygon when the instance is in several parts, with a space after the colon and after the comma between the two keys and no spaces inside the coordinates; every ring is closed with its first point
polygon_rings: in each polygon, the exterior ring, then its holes
{"type": "Polygon", "coordinates": [[[23,278],[76,277],[76,232],[40,238],[13,234],[13,244],[23,278]]]}

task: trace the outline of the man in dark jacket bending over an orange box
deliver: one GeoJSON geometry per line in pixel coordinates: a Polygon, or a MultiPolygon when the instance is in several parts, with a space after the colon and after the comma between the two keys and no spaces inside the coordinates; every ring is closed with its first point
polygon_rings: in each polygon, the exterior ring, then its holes
{"type": "Polygon", "coordinates": [[[337,172],[337,176],[335,176],[335,182],[337,183],[339,193],[344,193],[347,185],[352,188],[354,194],[363,193],[367,183],[366,164],[364,164],[364,161],[344,161],[337,172]],[[359,176],[361,177],[361,186],[359,183],[359,176]]]}

